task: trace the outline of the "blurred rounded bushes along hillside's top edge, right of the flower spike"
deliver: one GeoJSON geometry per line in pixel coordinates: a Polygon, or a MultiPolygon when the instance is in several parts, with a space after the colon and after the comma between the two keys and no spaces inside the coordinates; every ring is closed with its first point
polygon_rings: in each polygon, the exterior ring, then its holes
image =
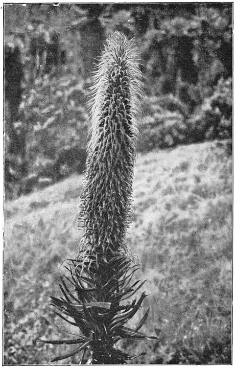
{"type": "Polygon", "coordinates": [[[205,98],[191,117],[185,104],[173,95],[146,101],[139,151],[155,147],[230,139],[232,135],[231,79],[220,79],[213,95],[205,98]]]}

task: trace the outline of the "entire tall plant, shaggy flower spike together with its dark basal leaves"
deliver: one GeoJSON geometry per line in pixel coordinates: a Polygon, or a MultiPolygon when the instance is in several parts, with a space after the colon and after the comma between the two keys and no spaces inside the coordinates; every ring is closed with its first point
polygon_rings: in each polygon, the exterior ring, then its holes
{"type": "Polygon", "coordinates": [[[80,213],[84,232],[78,256],[68,260],[68,275],[61,278],[63,296],[52,297],[57,314],[78,327],[79,333],[74,340],[44,340],[76,345],[52,361],[88,351],[92,364],[123,364],[132,356],[117,349],[117,341],[155,338],[139,332],[148,311],[136,328],[126,326],[146,297],[143,292],[138,300],[131,300],[145,281],[132,282],[138,265],[129,258],[124,243],[141,117],[142,85],[136,55],[134,41],[114,32],[94,75],[80,213]]]}

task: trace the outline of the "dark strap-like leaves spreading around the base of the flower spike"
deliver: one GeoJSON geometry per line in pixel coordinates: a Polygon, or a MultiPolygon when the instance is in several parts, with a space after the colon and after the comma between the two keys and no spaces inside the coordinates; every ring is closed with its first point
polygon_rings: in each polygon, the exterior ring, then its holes
{"type": "MultiPolygon", "coordinates": [[[[132,281],[138,265],[131,266],[127,256],[117,252],[109,262],[97,265],[96,255],[81,254],[81,258],[70,260],[66,269],[69,277],[61,278],[63,296],[52,297],[52,304],[59,310],[56,314],[70,325],[78,327],[78,336],[72,340],[39,340],[52,344],[75,344],[68,354],[56,357],[52,362],[68,358],[81,351],[91,354],[92,364],[124,364],[134,358],[115,348],[121,338],[147,339],[139,329],[144,325],[148,312],[138,326],[125,326],[137,312],[146,293],[138,300],[127,303],[145,281],[132,281]]],[[[75,333],[75,332],[74,332],[75,333]]],[[[83,357],[81,359],[83,362],[83,357]]]]}

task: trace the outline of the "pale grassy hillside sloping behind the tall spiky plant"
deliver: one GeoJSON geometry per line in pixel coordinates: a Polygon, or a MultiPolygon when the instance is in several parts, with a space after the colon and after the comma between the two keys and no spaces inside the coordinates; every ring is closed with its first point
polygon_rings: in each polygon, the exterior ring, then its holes
{"type": "MultiPolygon", "coordinates": [[[[69,337],[49,303],[60,294],[61,263],[78,249],[82,185],[74,175],[5,204],[5,364],[47,364],[66,350],[33,340],[69,337]]],[[[125,342],[130,353],[147,353],[133,363],[230,363],[229,144],[139,154],[133,189],[127,245],[141,263],[137,277],[148,280],[143,331],[159,336],[157,343],[125,342]]]]}

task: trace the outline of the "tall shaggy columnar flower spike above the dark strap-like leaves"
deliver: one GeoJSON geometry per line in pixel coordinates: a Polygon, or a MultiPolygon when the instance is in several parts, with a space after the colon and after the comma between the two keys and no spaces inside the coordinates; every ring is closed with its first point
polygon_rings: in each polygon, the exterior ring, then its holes
{"type": "Polygon", "coordinates": [[[114,32],[94,74],[91,130],[80,219],[82,248],[103,256],[125,248],[129,223],[141,73],[133,40],[114,32]]]}

